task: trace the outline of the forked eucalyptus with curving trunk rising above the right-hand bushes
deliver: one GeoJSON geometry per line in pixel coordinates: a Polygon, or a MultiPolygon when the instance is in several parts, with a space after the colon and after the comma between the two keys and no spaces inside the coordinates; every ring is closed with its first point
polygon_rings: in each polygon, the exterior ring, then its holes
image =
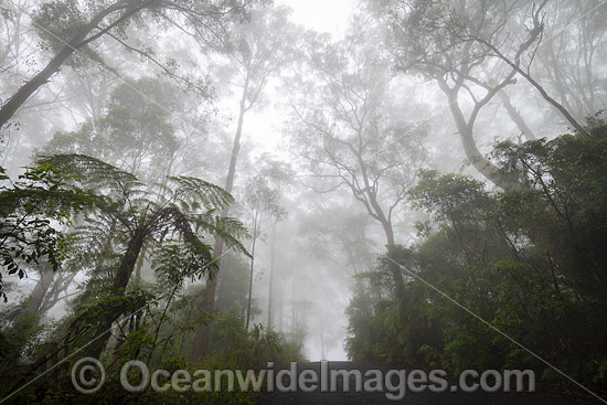
{"type": "MultiPolygon", "coordinates": [[[[445,94],[464,151],[488,180],[518,186],[500,175],[479,150],[475,125],[481,110],[522,76],[581,134],[584,128],[531,74],[544,35],[546,1],[374,1],[391,26],[390,44],[398,71],[434,79],[445,94]],[[467,108],[471,105],[471,109],[467,108]],[[468,110],[468,111],[467,111],[468,110]]],[[[519,128],[520,116],[504,104],[519,128]],[[517,122],[519,120],[519,122],[517,122]]]]}

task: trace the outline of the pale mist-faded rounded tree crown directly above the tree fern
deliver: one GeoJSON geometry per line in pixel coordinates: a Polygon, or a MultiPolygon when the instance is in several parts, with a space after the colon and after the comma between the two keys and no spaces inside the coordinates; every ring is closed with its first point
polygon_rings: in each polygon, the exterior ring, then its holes
{"type": "Polygon", "coordinates": [[[55,132],[42,152],[92,156],[150,180],[170,175],[180,147],[172,113],[181,108],[169,83],[128,81],[114,88],[103,117],[73,132],[55,132]]]}

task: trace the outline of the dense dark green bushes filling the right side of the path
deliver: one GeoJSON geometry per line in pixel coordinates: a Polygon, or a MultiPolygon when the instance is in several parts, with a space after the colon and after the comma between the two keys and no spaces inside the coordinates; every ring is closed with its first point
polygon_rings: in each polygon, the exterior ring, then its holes
{"type": "Polygon", "coordinates": [[[359,277],[352,358],[454,374],[524,365],[550,381],[549,362],[605,390],[607,126],[590,122],[590,138],[497,145],[508,191],[423,171],[409,199],[432,221],[359,277]],[[393,259],[402,301],[385,281],[393,259]]]}

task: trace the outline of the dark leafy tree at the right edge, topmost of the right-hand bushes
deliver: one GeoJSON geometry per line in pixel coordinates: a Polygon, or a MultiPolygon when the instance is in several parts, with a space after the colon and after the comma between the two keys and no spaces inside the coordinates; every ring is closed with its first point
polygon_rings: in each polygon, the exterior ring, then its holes
{"type": "MultiPolygon", "coordinates": [[[[557,268],[575,280],[581,296],[600,295],[607,288],[607,258],[597,248],[601,238],[601,200],[605,195],[603,170],[606,128],[594,117],[581,134],[561,136],[514,146],[499,145],[494,156],[509,175],[526,185],[521,201],[521,227],[537,244],[550,246],[549,255],[557,268]],[[533,199],[537,199],[534,204],[533,199]],[[528,211],[529,210],[529,211],[528,211]]],[[[514,205],[512,203],[512,205],[514,205]]]]}

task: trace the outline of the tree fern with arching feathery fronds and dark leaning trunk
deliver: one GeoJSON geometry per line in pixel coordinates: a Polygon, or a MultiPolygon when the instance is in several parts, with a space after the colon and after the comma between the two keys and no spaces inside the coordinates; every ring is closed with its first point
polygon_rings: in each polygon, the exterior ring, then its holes
{"type": "MultiPolygon", "coordinates": [[[[146,190],[132,174],[94,158],[64,154],[42,161],[77,173],[86,189],[95,194],[96,210],[87,219],[88,226],[79,233],[86,251],[96,252],[95,256],[102,258],[104,255],[99,253],[106,252],[110,243],[115,252],[121,252],[109,257],[109,268],[98,268],[88,281],[86,294],[79,297],[82,312],[76,313],[61,343],[66,351],[74,341],[93,333],[96,340],[89,350],[98,356],[113,323],[147,305],[149,297],[145,291],[129,288],[145,245],[153,242],[158,246],[152,254],[160,258],[158,271],[175,286],[183,278],[200,279],[215,273],[216,262],[211,246],[203,241],[204,233],[220,235],[228,246],[246,254],[237,241],[246,236],[244,227],[234,220],[214,215],[233,202],[232,196],[216,185],[195,178],[169,178],[167,193],[157,194],[146,190]]],[[[82,256],[74,258],[78,260],[82,256]]]]}

